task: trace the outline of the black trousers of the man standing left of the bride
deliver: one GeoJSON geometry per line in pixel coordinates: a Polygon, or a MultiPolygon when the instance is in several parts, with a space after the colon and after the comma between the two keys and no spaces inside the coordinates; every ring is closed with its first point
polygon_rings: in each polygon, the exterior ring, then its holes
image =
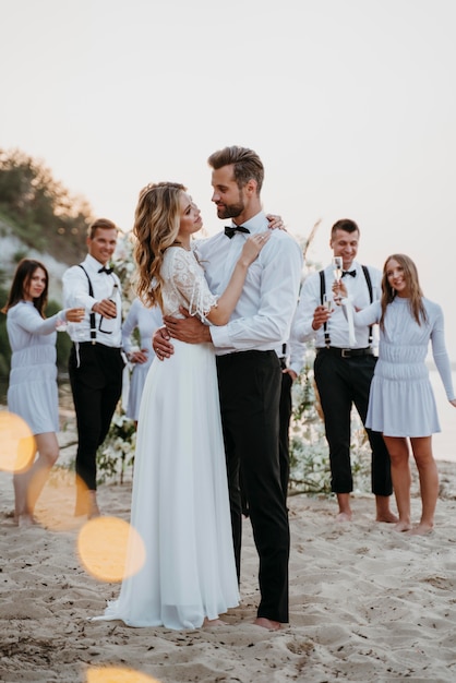
{"type": "MultiPolygon", "coordinates": [[[[124,363],[119,348],[103,344],[82,343],[79,356],[77,367],[73,345],[69,374],[77,422],[76,474],[89,490],[95,491],[96,453],[106,439],[122,392],[124,363]]],[[[81,500],[76,500],[76,513],[80,504],[81,500]]]]}

